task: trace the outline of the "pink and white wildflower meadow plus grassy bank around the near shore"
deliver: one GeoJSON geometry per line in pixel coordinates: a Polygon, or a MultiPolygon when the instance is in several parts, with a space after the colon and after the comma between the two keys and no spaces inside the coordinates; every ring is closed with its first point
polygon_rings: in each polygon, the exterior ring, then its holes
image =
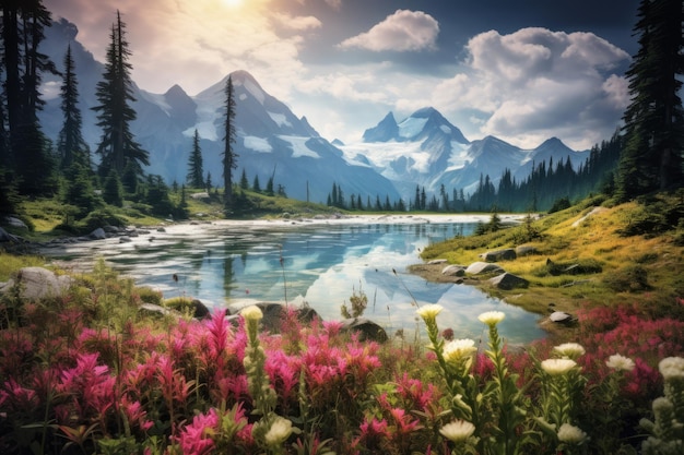
{"type": "MultiPolygon", "coordinates": [[[[103,263],[63,296],[27,301],[13,289],[0,301],[0,450],[681,453],[683,242],[668,221],[679,201],[590,200],[428,248],[467,262],[483,249],[535,247],[503,263],[532,282],[503,297],[541,300],[540,310],[553,297],[578,322],[524,349],[498,336],[504,313],[481,315],[488,337],[459,339],[439,326],[448,309],[438,306],[417,308],[424,327],[385,344],[337,322],[303,324],[293,309],[278,333],[260,331],[257,308],[202,321],[143,315],[141,303],[164,306],[163,296],[103,263]],[[599,204],[602,213],[573,227],[599,204]],[[564,276],[558,264],[585,273],[564,276]]],[[[0,275],[40,263],[2,259],[0,275]]]]}

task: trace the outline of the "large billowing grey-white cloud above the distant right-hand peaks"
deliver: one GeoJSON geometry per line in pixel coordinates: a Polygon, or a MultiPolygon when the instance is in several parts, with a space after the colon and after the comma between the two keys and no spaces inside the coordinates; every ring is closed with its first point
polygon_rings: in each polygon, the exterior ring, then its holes
{"type": "Polygon", "coordinates": [[[612,73],[629,56],[591,33],[522,28],[470,39],[462,72],[436,86],[437,109],[474,109],[480,135],[533,147],[550,136],[590,147],[610,136],[628,104],[627,81],[612,73]]]}

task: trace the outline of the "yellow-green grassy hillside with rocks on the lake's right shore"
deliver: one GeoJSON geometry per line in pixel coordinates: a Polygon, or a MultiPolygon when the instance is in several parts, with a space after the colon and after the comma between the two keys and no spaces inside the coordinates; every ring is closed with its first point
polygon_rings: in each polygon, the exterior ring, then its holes
{"type": "Polygon", "coordinates": [[[531,254],[499,262],[528,279],[528,288],[500,290],[485,284],[491,276],[472,278],[496,297],[538,313],[546,313],[552,302],[571,312],[638,299],[653,313],[684,316],[682,205],[674,195],[621,205],[588,199],[521,226],[429,246],[423,259],[468,265],[486,251],[528,246],[531,254]]]}

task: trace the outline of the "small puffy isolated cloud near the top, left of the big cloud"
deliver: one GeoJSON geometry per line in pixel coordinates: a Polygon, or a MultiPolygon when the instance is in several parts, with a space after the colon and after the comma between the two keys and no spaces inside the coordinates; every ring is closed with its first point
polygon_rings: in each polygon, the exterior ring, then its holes
{"type": "Polygon", "coordinates": [[[342,49],[361,48],[375,52],[416,51],[436,48],[439,23],[422,11],[397,10],[368,32],[342,41],[342,49]]]}

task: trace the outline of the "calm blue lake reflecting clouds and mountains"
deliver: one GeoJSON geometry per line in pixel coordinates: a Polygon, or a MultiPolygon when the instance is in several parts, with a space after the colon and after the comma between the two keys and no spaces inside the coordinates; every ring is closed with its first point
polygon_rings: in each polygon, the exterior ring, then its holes
{"type": "Polygon", "coordinates": [[[390,335],[423,331],[416,304],[438,303],[445,308],[440,328],[452,328],[457,338],[479,339],[485,331],[477,315],[490,310],[506,313],[499,330],[509,343],[544,337],[536,314],[473,286],[429,283],[406,272],[421,262],[427,244],[470,235],[475,226],[475,218],[464,216],[214,221],[166,226],[129,243],[111,238],[68,244],[45,254],[81,266],[103,258],[138,285],[166,298],[198,298],[210,309],[256,301],[306,303],[325,320],[340,320],[340,307],[364,292],[364,316],[390,335]]]}

